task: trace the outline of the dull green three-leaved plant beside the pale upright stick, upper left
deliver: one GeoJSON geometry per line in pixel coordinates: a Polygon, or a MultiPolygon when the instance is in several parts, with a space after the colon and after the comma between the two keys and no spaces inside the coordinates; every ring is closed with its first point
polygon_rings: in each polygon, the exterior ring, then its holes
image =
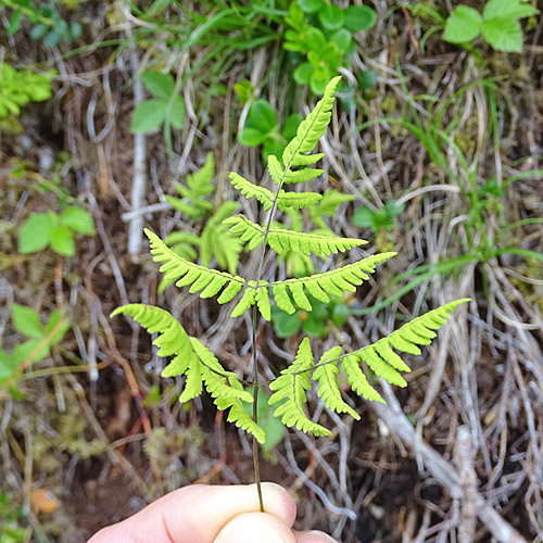
{"type": "Polygon", "coordinates": [[[148,132],[166,124],[181,129],[185,123],[185,100],[176,91],[174,77],[148,71],[141,80],[153,98],[141,102],[132,112],[134,134],[148,132]]]}

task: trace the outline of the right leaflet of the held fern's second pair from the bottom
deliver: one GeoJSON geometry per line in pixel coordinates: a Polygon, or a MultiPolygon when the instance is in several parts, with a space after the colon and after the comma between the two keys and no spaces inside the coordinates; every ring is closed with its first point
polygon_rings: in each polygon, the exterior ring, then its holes
{"type": "Polygon", "coordinates": [[[295,311],[292,303],[289,304],[287,301],[288,294],[286,289],[289,289],[292,293],[295,305],[302,310],[312,311],[313,307],[304,293],[304,287],[313,298],[328,303],[330,301],[328,294],[343,296],[345,292],[355,292],[357,286],[369,279],[368,274],[372,274],[376,270],[377,264],[381,264],[395,254],[393,252],[375,254],[353,264],[326,272],[325,274],[276,281],[269,283],[269,286],[274,290],[274,298],[277,305],[282,311],[290,315],[295,311]]]}

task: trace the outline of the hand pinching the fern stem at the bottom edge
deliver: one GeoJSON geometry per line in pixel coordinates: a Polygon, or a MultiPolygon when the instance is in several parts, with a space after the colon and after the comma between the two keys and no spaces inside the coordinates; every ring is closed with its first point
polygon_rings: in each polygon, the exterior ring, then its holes
{"type": "Polygon", "coordinates": [[[254,484],[192,484],[136,515],[100,530],[87,543],[330,543],[323,532],[292,530],[296,506],[287,491],[262,484],[261,513],[254,484]]]}

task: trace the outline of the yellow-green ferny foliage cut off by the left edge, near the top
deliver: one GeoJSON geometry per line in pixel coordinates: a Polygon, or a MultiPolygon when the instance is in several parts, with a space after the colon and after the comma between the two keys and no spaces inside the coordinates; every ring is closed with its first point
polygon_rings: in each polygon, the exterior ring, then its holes
{"type": "Polygon", "coordinates": [[[28,102],[42,102],[51,98],[51,81],[56,72],[37,74],[29,68],[15,70],[5,62],[0,64],[0,118],[18,115],[28,102]]]}

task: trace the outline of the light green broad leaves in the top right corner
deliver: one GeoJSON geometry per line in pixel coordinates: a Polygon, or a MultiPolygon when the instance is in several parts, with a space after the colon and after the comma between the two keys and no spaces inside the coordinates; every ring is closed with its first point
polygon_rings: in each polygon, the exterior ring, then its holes
{"type": "Polygon", "coordinates": [[[519,18],[539,13],[528,0],[489,0],[482,15],[469,5],[458,5],[446,20],[443,39],[469,43],[482,34],[497,51],[522,52],[519,18]]]}

